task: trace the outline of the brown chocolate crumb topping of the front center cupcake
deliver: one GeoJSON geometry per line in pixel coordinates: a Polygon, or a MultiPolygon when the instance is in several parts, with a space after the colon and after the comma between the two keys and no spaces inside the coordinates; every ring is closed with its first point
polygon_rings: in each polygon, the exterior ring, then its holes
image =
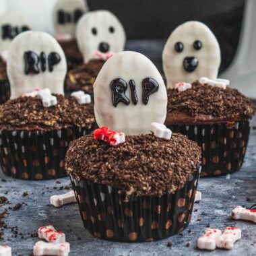
{"type": "Polygon", "coordinates": [[[168,141],[152,134],[125,139],[119,146],[92,135],[71,141],[65,169],[75,179],[110,185],[127,196],[151,196],[183,188],[199,168],[201,149],[180,133],[172,133],[168,141]]]}

